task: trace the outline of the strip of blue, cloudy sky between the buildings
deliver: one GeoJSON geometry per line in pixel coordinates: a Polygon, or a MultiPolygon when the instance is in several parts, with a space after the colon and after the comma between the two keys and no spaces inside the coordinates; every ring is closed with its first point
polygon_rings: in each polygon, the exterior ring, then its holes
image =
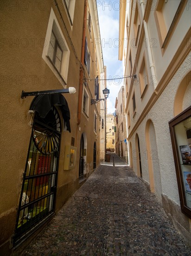
{"type": "MultiPolygon", "coordinates": [[[[107,67],[107,79],[123,76],[122,61],[118,60],[119,10],[119,0],[97,0],[103,62],[107,67]]],[[[115,99],[122,85],[123,79],[107,81],[107,88],[110,92],[107,99],[107,113],[114,113],[115,99]]]]}

